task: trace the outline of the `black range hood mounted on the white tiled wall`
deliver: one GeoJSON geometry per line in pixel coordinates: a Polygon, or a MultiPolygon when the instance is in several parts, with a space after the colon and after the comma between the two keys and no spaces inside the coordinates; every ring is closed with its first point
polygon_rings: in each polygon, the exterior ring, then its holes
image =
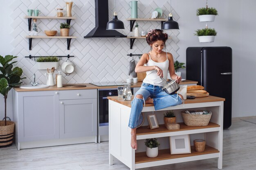
{"type": "Polygon", "coordinates": [[[106,30],[108,23],[108,0],[95,0],[95,28],[84,38],[125,38],[116,30],[106,30]]]}

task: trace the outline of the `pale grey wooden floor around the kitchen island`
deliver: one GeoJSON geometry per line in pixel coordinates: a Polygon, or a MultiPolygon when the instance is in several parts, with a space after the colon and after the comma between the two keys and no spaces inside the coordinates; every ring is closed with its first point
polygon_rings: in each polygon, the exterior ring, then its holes
{"type": "MultiPolygon", "coordinates": [[[[254,117],[253,119],[256,119],[254,117]]],[[[256,169],[256,124],[236,118],[223,131],[223,170],[256,169]]],[[[108,164],[108,142],[23,149],[0,148],[1,170],[128,170],[114,159],[108,164]]],[[[206,159],[143,170],[217,170],[217,159],[206,159]]]]}

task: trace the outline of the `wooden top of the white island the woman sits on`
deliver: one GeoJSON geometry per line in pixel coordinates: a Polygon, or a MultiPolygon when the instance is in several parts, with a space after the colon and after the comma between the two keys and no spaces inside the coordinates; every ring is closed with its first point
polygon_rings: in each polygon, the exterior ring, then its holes
{"type": "MultiPolygon", "coordinates": [[[[134,96],[132,96],[132,99],[134,96]]],[[[122,98],[118,98],[118,96],[110,96],[108,97],[109,100],[118,102],[122,105],[131,107],[131,101],[125,101],[122,98]]],[[[218,102],[218,101],[225,101],[225,98],[215,97],[215,96],[207,96],[207,97],[198,97],[195,99],[186,99],[185,104],[188,103],[201,103],[201,102],[218,102]]],[[[146,104],[146,107],[154,106],[154,104],[146,104]]]]}

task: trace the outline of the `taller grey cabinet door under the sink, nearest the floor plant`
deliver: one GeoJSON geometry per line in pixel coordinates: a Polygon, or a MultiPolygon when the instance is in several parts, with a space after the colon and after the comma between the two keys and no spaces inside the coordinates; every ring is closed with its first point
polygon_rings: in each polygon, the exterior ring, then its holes
{"type": "Polygon", "coordinates": [[[59,138],[56,91],[18,93],[19,142],[59,138]]]}

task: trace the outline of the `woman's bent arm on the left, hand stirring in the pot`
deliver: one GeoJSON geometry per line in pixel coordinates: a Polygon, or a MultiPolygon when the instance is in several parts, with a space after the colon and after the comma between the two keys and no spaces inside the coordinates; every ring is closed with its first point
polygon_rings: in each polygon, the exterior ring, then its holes
{"type": "Polygon", "coordinates": [[[160,69],[157,66],[144,66],[145,63],[148,63],[148,54],[143,54],[139,60],[139,62],[137,63],[136,67],[135,67],[135,72],[137,73],[141,73],[141,72],[147,72],[150,70],[157,70],[157,75],[159,76],[163,76],[163,70],[160,69]]]}

